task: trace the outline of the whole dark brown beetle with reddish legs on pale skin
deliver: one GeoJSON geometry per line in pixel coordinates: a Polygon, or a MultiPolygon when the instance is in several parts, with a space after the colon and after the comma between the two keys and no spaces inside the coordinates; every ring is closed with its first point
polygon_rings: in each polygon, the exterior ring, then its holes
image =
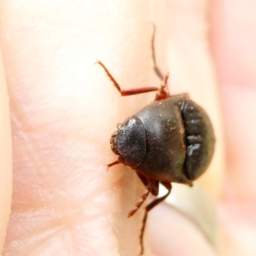
{"type": "Polygon", "coordinates": [[[121,96],[158,90],[154,102],[125,119],[110,138],[110,147],[119,158],[108,167],[119,163],[131,166],[147,189],[128,217],[137,212],[149,194],[159,194],[160,183],[168,190],[166,195],[145,207],[140,235],[141,254],[148,212],[170,195],[172,183],[192,186],[193,181],[206,172],[215,144],[212,123],[204,109],[190,100],[186,93],[177,96],[169,94],[166,88],[169,74],[163,76],[155,61],[154,33],[151,47],[154,72],[163,81],[160,88],[121,90],[102,61],[96,62],[102,66],[121,96]]]}

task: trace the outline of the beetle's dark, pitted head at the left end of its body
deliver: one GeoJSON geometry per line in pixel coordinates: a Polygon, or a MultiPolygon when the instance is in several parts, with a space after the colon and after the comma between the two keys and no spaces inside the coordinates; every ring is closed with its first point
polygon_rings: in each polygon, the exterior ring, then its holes
{"type": "Polygon", "coordinates": [[[142,121],[135,116],[125,119],[122,125],[118,125],[118,131],[111,136],[110,147],[114,154],[124,160],[126,166],[139,166],[147,150],[146,131],[142,121]]]}

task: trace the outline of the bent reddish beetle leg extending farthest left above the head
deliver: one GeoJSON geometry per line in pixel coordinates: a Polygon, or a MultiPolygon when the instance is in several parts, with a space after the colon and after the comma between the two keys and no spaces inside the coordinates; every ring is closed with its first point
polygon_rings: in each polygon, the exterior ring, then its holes
{"type": "Polygon", "coordinates": [[[145,92],[149,92],[149,91],[159,90],[158,87],[143,87],[143,88],[122,90],[121,87],[119,86],[118,82],[113,78],[111,73],[108,71],[108,68],[105,67],[105,65],[102,63],[102,61],[96,61],[96,63],[103,67],[104,71],[108,75],[108,78],[113,82],[114,87],[119,91],[121,96],[131,96],[131,95],[136,95],[136,94],[145,93],[145,92]]]}

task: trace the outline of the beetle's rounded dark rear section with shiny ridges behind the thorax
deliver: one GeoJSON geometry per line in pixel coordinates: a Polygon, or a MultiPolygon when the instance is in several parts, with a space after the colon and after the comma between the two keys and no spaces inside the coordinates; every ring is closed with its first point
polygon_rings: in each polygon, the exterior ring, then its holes
{"type": "Polygon", "coordinates": [[[184,173],[189,180],[195,180],[211,162],[215,143],[213,128],[207,113],[191,100],[183,102],[182,116],[187,146],[184,173]]]}

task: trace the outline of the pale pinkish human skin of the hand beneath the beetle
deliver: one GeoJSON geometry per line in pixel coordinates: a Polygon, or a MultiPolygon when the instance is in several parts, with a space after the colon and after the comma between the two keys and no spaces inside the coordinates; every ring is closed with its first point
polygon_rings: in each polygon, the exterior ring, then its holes
{"type": "MultiPolygon", "coordinates": [[[[217,201],[220,254],[256,253],[256,42],[250,28],[256,24],[252,13],[256,3],[169,1],[166,15],[164,4],[154,3],[2,1],[0,42],[14,165],[6,230],[11,154],[5,107],[3,255],[139,252],[143,211],[131,219],[125,216],[143,194],[143,184],[130,168],[119,165],[106,172],[104,164],[116,160],[109,148],[115,125],[152,102],[154,93],[120,97],[93,63],[100,59],[122,88],[159,85],[149,44],[152,20],[157,27],[158,62],[171,73],[170,90],[189,91],[216,128],[217,156],[201,183],[217,201]],[[201,92],[206,88],[212,92],[210,98],[201,92]]],[[[165,205],[150,212],[146,232],[145,255],[214,255],[201,231],[165,205]]]]}

